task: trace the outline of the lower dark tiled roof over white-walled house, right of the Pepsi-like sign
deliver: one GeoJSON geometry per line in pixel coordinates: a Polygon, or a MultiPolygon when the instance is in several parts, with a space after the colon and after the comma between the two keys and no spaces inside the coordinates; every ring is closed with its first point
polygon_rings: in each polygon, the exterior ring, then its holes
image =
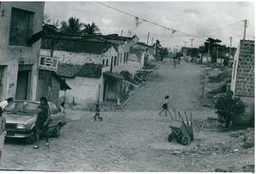
{"type": "Polygon", "coordinates": [[[64,78],[101,78],[101,64],[85,63],[83,65],[60,63],[58,75],[64,78]]]}

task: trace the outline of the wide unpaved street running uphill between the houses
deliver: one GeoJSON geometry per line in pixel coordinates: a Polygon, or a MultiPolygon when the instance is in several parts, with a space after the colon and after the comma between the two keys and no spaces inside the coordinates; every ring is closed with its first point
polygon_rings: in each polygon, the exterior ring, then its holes
{"type": "Polygon", "coordinates": [[[241,148],[229,132],[203,130],[190,146],[169,143],[168,117],[158,115],[161,101],[191,111],[203,120],[214,111],[199,105],[199,76],[203,67],[181,61],[161,63],[149,80],[131,96],[119,112],[103,112],[102,122],[93,113],[67,111],[68,123],[60,138],[51,138],[50,148],[41,141],[39,149],[9,141],[1,169],[45,171],[214,171],[254,164],[254,148],[241,148]],[[224,165],[225,164],[225,165],[224,165]]]}

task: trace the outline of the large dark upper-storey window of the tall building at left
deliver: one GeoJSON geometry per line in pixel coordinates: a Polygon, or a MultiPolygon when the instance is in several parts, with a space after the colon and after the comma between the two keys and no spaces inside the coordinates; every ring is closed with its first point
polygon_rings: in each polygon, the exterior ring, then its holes
{"type": "Polygon", "coordinates": [[[11,9],[9,45],[29,46],[27,40],[32,35],[34,13],[23,9],[11,9]]]}

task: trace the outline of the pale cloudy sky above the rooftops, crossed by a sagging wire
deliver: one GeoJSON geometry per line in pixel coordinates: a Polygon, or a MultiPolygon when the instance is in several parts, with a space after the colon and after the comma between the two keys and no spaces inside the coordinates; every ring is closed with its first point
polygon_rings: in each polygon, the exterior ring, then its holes
{"type": "Polygon", "coordinates": [[[77,17],[84,24],[94,22],[99,26],[102,34],[120,35],[122,32],[122,36],[128,36],[129,30],[138,36],[139,42],[144,43],[147,43],[147,36],[150,33],[149,44],[157,39],[162,46],[171,48],[185,45],[199,46],[209,37],[220,39],[227,45],[230,44],[229,38],[232,37],[232,46],[236,47],[239,40],[243,39],[243,20],[247,19],[246,39],[254,39],[255,4],[252,1],[105,1],[103,3],[137,16],[139,24],[136,25],[135,17],[109,9],[96,1],[46,2],[45,15],[52,22],[67,21],[69,17],[77,17]],[[140,20],[141,18],[171,29],[152,25],[140,20]]]}

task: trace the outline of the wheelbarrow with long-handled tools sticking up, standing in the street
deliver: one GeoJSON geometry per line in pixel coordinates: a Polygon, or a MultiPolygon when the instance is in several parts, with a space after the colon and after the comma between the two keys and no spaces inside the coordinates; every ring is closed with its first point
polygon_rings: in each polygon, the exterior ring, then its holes
{"type": "Polygon", "coordinates": [[[186,114],[187,122],[185,122],[181,114],[178,113],[178,115],[179,119],[173,119],[171,122],[170,128],[172,132],[168,135],[168,141],[176,140],[181,145],[190,145],[193,140],[192,120],[189,121],[186,114]]]}

